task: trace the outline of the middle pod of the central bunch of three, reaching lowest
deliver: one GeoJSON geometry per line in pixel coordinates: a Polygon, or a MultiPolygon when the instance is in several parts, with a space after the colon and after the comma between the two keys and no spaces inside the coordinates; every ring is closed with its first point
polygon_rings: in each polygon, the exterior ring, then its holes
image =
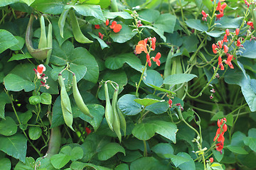
{"type": "Polygon", "coordinates": [[[117,89],[114,89],[114,95],[113,95],[113,99],[112,99],[112,109],[113,109],[113,113],[114,113],[113,129],[114,129],[114,132],[117,134],[119,142],[121,142],[122,141],[122,134],[121,134],[121,130],[120,130],[121,125],[120,125],[119,115],[117,113],[118,90],[119,90],[119,87],[117,85],[117,89]]]}

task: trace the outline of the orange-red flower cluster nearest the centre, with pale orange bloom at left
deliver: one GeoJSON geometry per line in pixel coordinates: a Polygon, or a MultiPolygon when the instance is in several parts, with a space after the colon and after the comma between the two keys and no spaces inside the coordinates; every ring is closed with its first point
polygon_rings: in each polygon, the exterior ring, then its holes
{"type": "Polygon", "coordinates": [[[156,65],[160,66],[160,58],[161,58],[161,53],[157,52],[156,57],[150,57],[149,53],[150,51],[154,51],[156,49],[156,38],[145,38],[144,40],[140,40],[138,42],[138,45],[135,47],[136,54],[140,54],[143,52],[146,53],[146,62],[149,64],[149,67],[151,67],[151,59],[156,62],[156,65]],[[147,42],[150,42],[150,46],[147,44],[147,42]],[[149,46],[149,52],[147,47],[149,46]]]}

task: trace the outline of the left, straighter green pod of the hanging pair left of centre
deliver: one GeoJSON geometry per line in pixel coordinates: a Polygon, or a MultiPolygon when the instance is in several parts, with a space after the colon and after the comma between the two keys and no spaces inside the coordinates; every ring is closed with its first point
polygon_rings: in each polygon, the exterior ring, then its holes
{"type": "Polygon", "coordinates": [[[65,124],[73,131],[75,131],[72,127],[73,124],[73,114],[72,114],[72,109],[71,109],[71,104],[70,104],[70,99],[68,97],[68,93],[65,89],[65,84],[63,81],[63,77],[61,74],[58,74],[58,81],[60,84],[60,104],[61,104],[61,109],[63,111],[63,118],[65,121],[65,124]]]}

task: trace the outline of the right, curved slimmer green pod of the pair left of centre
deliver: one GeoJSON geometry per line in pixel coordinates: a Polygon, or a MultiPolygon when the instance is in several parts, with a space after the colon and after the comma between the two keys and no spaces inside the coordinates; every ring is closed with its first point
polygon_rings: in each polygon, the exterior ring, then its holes
{"type": "Polygon", "coordinates": [[[90,114],[89,109],[87,108],[84,101],[82,100],[82,96],[78,90],[78,84],[77,84],[75,74],[73,74],[73,96],[75,98],[75,103],[77,104],[80,111],[85,115],[88,115],[90,118],[93,118],[93,116],[90,114]]]}

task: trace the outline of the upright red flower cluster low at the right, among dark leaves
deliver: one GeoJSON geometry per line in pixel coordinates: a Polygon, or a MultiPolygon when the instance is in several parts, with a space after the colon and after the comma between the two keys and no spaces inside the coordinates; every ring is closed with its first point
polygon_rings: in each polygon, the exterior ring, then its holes
{"type": "Polygon", "coordinates": [[[228,129],[227,125],[225,124],[226,122],[227,122],[226,118],[222,118],[221,120],[217,121],[218,130],[213,139],[213,141],[217,140],[218,142],[220,142],[220,143],[216,144],[216,150],[218,152],[220,152],[220,154],[222,154],[222,149],[223,149],[224,141],[225,141],[224,133],[228,129]]]}

